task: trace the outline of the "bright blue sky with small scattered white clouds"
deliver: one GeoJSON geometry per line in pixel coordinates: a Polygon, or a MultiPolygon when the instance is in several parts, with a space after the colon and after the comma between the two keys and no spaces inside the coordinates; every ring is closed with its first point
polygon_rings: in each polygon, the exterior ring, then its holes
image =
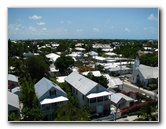
{"type": "Polygon", "coordinates": [[[8,38],[158,39],[158,8],[8,8],[8,38]]]}

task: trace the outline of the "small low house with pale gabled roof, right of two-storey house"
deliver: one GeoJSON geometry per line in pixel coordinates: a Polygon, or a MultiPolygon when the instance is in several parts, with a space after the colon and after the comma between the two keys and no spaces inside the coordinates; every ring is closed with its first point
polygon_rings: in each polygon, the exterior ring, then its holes
{"type": "Polygon", "coordinates": [[[117,108],[126,108],[134,104],[134,99],[122,93],[116,93],[111,96],[111,103],[117,108]]]}

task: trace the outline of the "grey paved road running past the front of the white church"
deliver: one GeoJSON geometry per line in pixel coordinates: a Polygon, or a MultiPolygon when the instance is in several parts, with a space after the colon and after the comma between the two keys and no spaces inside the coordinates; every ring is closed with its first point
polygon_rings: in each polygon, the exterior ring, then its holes
{"type": "Polygon", "coordinates": [[[131,84],[130,82],[128,81],[124,81],[123,82],[123,86],[120,87],[121,90],[125,90],[125,91],[133,91],[133,92],[139,92],[139,93],[143,93],[145,94],[146,96],[154,99],[154,98],[157,98],[158,95],[156,95],[154,92],[152,91],[148,91],[148,90],[145,90],[143,88],[139,88],[137,87],[136,85],[133,85],[131,84]],[[157,96],[157,97],[156,97],[157,96]]]}

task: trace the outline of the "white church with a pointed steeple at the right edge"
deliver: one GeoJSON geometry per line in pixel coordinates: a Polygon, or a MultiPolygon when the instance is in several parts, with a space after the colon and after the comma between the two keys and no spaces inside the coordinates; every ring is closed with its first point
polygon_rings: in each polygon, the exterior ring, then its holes
{"type": "Polygon", "coordinates": [[[157,82],[159,77],[159,68],[140,64],[138,58],[135,59],[132,74],[132,83],[141,83],[148,86],[151,82],[157,82]]]}

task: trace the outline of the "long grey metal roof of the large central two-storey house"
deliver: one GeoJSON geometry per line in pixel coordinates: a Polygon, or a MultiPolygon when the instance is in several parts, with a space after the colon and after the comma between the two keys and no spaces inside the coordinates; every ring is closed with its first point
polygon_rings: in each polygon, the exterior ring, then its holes
{"type": "Polygon", "coordinates": [[[72,72],[71,74],[69,74],[65,78],[65,81],[84,95],[86,95],[95,86],[99,85],[98,83],[84,77],[83,75],[77,72],[72,72]]]}

